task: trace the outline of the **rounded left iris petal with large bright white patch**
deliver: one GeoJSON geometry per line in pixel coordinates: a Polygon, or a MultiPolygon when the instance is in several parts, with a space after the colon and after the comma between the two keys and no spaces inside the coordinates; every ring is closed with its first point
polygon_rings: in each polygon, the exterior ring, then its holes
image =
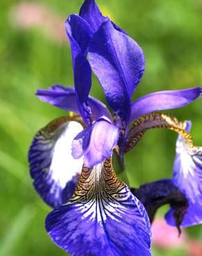
{"type": "Polygon", "coordinates": [[[55,208],[75,191],[83,157],[71,155],[73,138],[83,127],[76,119],[57,118],[37,132],[28,153],[30,174],[42,199],[55,208]]]}

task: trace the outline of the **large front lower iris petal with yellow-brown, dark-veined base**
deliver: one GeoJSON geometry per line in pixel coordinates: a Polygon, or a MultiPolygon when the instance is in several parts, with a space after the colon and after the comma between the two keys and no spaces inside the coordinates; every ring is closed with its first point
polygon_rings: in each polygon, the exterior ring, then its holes
{"type": "Polygon", "coordinates": [[[46,230],[71,255],[149,256],[147,212],[120,182],[111,159],[83,168],[75,194],[46,217],[46,230]]]}

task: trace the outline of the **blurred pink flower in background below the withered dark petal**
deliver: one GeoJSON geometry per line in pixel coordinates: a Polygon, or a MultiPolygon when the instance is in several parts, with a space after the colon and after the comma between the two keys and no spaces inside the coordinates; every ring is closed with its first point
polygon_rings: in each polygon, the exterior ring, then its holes
{"type": "Polygon", "coordinates": [[[156,219],[152,224],[152,239],[154,246],[167,249],[183,247],[187,236],[183,231],[181,237],[178,237],[176,228],[168,226],[164,219],[156,219]]]}

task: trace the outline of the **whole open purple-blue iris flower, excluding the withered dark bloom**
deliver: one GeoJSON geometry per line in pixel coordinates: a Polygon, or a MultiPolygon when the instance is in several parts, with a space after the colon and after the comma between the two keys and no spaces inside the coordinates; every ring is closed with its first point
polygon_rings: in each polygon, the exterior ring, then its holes
{"type": "MultiPolygon", "coordinates": [[[[201,97],[201,87],[160,91],[131,102],[145,71],[143,50],[94,0],[66,20],[74,86],[39,89],[40,100],[71,116],[38,131],[29,151],[30,174],[42,199],[54,208],[46,217],[53,242],[71,255],[151,255],[151,227],[143,203],[116,176],[112,155],[123,163],[145,131],[178,132],[172,183],[187,196],[183,226],[201,221],[201,149],[194,147],[185,122],[163,113],[201,97]],[[89,96],[91,71],[100,81],[111,111],[89,96]],[[189,178],[189,179],[187,179],[189,178]],[[198,197],[197,197],[198,196],[198,197]],[[195,201],[194,201],[195,200],[195,201]]],[[[190,122],[187,122],[190,125],[190,122]]],[[[173,209],[167,221],[173,224],[173,209]]]]}

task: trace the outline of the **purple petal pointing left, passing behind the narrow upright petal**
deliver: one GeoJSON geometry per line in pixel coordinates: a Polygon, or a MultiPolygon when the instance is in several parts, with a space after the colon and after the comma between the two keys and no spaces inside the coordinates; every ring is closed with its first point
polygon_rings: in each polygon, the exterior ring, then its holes
{"type": "MultiPolygon", "coordinates": [[[[37,90],[36,95],[39,96],[40,100],[53,104],[55,107],[80,114],[75,98],[75,90],[71,87],[55,85],[48,90],[37,90]]],[[[102,116],[112,120],[109,109],[100,100],[89,96],[87,104],[91,108],[93,120],[98,120],[102,116]]]]}

